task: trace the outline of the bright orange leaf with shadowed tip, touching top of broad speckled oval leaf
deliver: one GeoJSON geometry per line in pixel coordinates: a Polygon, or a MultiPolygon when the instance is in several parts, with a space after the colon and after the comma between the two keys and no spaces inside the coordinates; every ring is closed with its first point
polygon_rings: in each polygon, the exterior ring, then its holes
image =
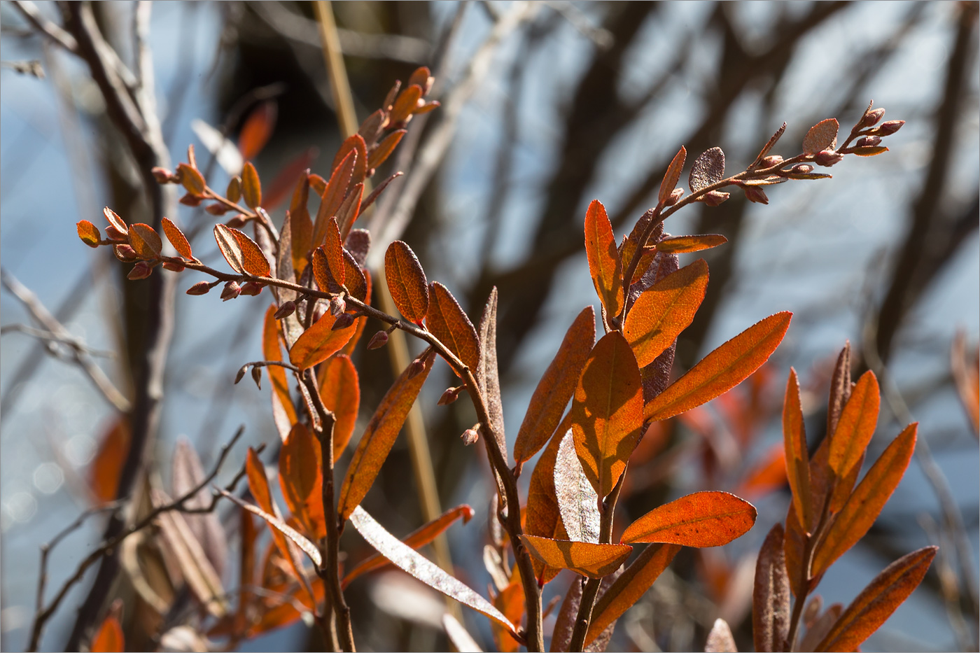
{"type": "Polygon", "coordinates": [[[636,363],[654,362],[691,325],[708,288],[708,264],[698,259],[664,276],[643,292],[626,314],[623,335],[636,363]]]}

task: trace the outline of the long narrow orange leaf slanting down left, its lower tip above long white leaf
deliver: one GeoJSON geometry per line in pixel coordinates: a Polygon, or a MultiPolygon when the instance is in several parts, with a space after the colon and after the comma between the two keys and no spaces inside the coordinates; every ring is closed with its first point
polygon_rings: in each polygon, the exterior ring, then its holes
{"type": "Polygon", "coordinates": [[[421,369],[413,362],[395,379],[387,394],[381,399],[374,416],[368,422],[354,457],[347,468],[347,475],[340,488],[338,513],[343,522],[354,512],[361,500],[368,494],[384,459],[388,457],[399,431],[409,416],[418,391],[432,369],[435,355],[428,351],[421,360],[421,369]]]}

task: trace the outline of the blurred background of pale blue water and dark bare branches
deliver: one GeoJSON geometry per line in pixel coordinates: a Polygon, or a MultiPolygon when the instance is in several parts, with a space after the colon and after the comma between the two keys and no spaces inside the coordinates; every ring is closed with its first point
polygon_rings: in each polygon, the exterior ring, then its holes
{"type": "MultiPolygon", "coordinates": [[[[60,22],[53,3],[37,8],[60,22]]],[[[129,61],[134,3],[94,9],[129,61]]],[[[209,134],[223,130],[233,140],[244,117],[271,100],[274,131],[256,160],[264,182],[300,161],[328,174],[341,135],[311,3],[173,2],[152,11],[157,103],[174,165],[194,144],[202,169],[212,167],[211,185],[223,188],[227,173],[207,163],[209,134]]],[[[678,555],[620,619],[610,650],[699,650],[719,616],[736,630],[740,649],[751,649],[755,557],[768,528],[785,519],[789,500],[770,465],[772,447],[782,441],[785,379],[790,366],[801,376],[815,446],[831,367],[847,340],[856,376],[869,366],[884,373],[869,460],[912,420],[920,444],[878,523],[818,593],[825,604],[846,605],[892,560],[940,544],[926,580],[865,648],[977,650],[980,460],[976,414],[969,414],[977,402],[980,332],[976,3],[549,1],[528,9],[496,1],[344,2],[333,11],[359,120],[395,79],[418,66],[436,75],[430,97],[443,108],[417,117],[402,148],[415,151],[416,161],[425,152],[443,156],[400,237],[474,321],[490,289],[499,289],[499,366],[512,443],[564,330],[583,306],[598,304],[582,246],[589,201],[605,204],[621,237],[656,204],[665,166],[681,145],[689,162],[722,147],[734,173],[784,121],[773,152],[786,157],[801,151],[809,126],[837,118],[846,132],[872,99],[887,110],[885,120],[907,121],[887,139],[891,151],[848,157],[827,171],[833,179],[774,186],[767,206],[733,192],[719,207],[699,204],[665,225],[673,234],[728,238],[711,251],[682,255],[685,265],[704,254],[711,284],[678,341],[675,375],[765,316],[790,310],[795,317],[760,373],[697,414],[665,424],[634,455],[624,524],[662,501],[709,488],[741,492],[760,516],[723,549],[678,555]],[[444,152],[433,135],[448,138],[444,152]]],[[[104,206],[127,221],[149,221],[141,218],[139,178],[87,68],[42,40],[11,3],[0,4],[0,22],[0,647],[23,650],[38,547],[92,505],[92,466],[105,459],[100,450],[115,446],[106,438],[118,414],[69,350],[55,346],[59,360],[18,326],[37,325],[18,298],[23,288],[11,288],[19,281],[96,350],[93,360],[125,394],[139,285],[125,281],[127,266],[108,248],[80,243],[73,224],[103,226],[104,206]]],[[[396,154],[380,171],[377,178],[396,169],[408,176],[392,183],[375,217],[396,210],[417,172],[413,164],[396,154]]],[[[270,207],[277,224],[284,208],[270,207]]],[[[222,268],[209,234],[215,218],[186,206],[171,217],[197,233],[195,254],[222,268]]],[[[374,235],[376,256],[386,242],[374,235]]],[[[193,273],[177,280],[154,446],[158,473],[168,479],[178,436],[190,439],[206,468],[239,425],[246,425],[243,443],[270,444],[267,461],[278,443],[268,388],[231,384],[239,366],[262,358],[270,297],[221,303],[217,292],[186,296],[197,280],[193,273]]],[[[385,350],[368,352],[362,344],[354,358],[363,398],[356,440],[392,376],[385,350]]],[[[459,439],[475,421],[468,402],[435,405],[450,382],[448,368],[437,364],[419,405],[442,506],[468,503],[476,511],[469,524],[448,531],[453,563],[460,578],[485,588],[491,479],[481,449],[459,439]]],[[[233,475],[244,451],[232,451],[220,479],[233,475]]],[[[529,476],[521,478],[525,487],[529,476]]],[[[424,521],[416,483],[400,438],[365,507],[403,535],[424,521]]],[[[100,519],[55,550],[49,587],[98,543],[100,519]]],[[[233,563],[233,527],[228,545],[233,563]]],[[[366,553],[354,534],[345,534],[344,546],[354,560],[366,553]]],[[[438,627],[444,604],[397,576],[351,585],[359,645],[446,650],[438,627]]],[[[225,577],[225,587],[234,587],[234,574],[225,577]]],[[[564,593],[570,580],[548,585],[545,600],[564,593]]],[[[86,591],[83,582],[69,594],[42,649],[61,650],[86,591]]],[[[464,619],[484,647],[494,645],[485,619],[466,611],[464,619]]],[[[311,637],[297,622],[241,649],[308,650],[316,645],[311,637]]]]}

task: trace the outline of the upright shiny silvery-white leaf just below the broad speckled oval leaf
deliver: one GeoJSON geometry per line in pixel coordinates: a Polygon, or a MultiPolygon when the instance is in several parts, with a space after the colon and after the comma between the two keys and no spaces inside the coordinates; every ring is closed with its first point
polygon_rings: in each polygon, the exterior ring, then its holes
{"type": "Polygon", "coordinates": [[[569,428],[555,459],[555,497],[564,531],[573,542],[599,543],[599,496],[582,470],[569,428]]]}

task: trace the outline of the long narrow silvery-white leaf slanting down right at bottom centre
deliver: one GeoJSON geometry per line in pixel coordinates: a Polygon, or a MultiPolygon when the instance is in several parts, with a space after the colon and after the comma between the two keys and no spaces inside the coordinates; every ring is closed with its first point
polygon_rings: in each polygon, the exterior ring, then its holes
{"type": "Polygon", "coordinates": [[[435,563],[426,560],[412,547],[398,541],[398,538],[381,527],[374,518],[368,515],[361,506],[357,506],[351,514],[351,524],[358,532],[385,558],[396,567],[408,572],[428,586],[450,596],[460,603],[486,615],[514,634],[517,630],[489,601],[467,587],[457,578],[442,571],[435,563]]]}

